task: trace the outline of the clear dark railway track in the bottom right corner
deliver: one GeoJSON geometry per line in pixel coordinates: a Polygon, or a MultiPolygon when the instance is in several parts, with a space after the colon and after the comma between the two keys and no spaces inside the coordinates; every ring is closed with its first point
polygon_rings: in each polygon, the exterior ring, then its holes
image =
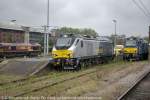
{"type": "Polygon", "coordinates": [[[150,100],[150,70],[144,73],[117,100],[150,100]]]}

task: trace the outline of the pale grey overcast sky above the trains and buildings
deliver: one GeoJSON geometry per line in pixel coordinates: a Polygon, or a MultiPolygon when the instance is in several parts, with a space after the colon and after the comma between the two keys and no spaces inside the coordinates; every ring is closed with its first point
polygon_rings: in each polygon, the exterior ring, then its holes
{"type": "MultiPolygon", "coordinates": [[[[138,0],[136,0],[138,1],[138,0]]],[[[150,11],[150,0],[142,0],[150,11]]],[[[0,22],[16,19],[17,23],[46,24],[47,0],[0,0],[0,22]]],[[[100,35],[114,33],[147,35],[149,19],[132,0],[50,0],[50,25],[92,28],[100,35]]]]}

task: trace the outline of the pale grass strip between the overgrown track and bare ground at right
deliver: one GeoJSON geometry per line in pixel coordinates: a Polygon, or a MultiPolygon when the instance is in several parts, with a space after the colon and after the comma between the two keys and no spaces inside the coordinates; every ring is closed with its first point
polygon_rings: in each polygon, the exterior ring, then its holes
{"type": "MultiPolygon", "coordinates": [[[[145,62],[143,62],[143,63],[145,63],[145,62]]],[[[56,85],[54,87],[49,87],[49,88],[43,89],[41,91],[31,93],[30,95],[40,95],[42,93],[41,95],[45,95],[45,96],[48,94],[57,96],[57,95],[60,95],[60,91],[62,93],[62,91],[64,91],[64,90],[65,90],[64,95],[72,95],[72,94],[73,95],[81,95],[84,92],[94,90],[97,87],[98,80],[102,79],[104,76],[106,76],[109,73],[115,72],[113,70],[120,70],[120,69],[126,68],[127,66],[132,65],[132,64],[134,64],[134,63],[133,62],[118,62],[118,63],[111,63],[108,65],[96,66],[94,68],[89,68],[89,69],[84,70],[84,71],[82,70],[79,72],[74,72],[74,73],[72,73],[72,75],[77,75],[77,74],[85,73],[87,71],[92,71],[92,70],[99,70],[100,71],[100,72],[98,71],[98,72],[86,75],[85,78],[89,79],[86,83],[83,82],[83,80],[80,80],[80,78],[74,79],[74,80],[70,80],[70,81],[61,83],[61,84],[56,85]],[[100,76],[98,75],[99,73],[101,73],[100,76]],[[69,92],[66,92],[66,91],[69,91],[69,92]]]]}

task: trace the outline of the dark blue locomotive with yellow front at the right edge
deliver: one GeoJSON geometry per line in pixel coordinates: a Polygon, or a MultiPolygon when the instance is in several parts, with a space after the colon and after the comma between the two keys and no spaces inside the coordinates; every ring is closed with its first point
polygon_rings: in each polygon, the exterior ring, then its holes
{"type": "Polygon", "coordinates": [[[148,59],[148,42],[141,38],[127,38],[123,50],[123,59],[128,61],[148,59]]]}

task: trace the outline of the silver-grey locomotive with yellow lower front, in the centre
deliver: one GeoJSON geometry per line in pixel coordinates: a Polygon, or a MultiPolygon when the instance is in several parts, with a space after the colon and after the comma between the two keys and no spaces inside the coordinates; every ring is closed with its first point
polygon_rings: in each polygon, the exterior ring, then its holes
{"type": "Polygon", "coordinates": [[[113,50],[112,42],[106,39],[62,36],[52,49],[53,66],[80,70],[113,59],[113,50]]]}

